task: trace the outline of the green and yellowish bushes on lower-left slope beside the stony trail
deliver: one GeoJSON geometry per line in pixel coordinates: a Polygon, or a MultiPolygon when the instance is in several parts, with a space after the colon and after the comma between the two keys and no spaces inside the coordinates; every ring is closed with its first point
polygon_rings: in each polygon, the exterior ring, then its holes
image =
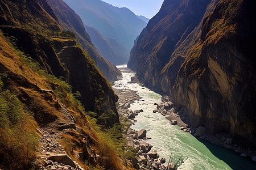
{"type": "Polygon", "coordinates": [[[31,113],[23,109],[18,97],[3,89],[0,77],[0,165],[23,169],[35,159],[39,137],[31,113]]]}

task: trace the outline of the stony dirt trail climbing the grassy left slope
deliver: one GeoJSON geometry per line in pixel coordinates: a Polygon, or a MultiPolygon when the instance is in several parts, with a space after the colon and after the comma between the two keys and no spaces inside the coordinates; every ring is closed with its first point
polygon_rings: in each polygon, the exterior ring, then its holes
{"type": "Polygon", "coordinates": [[[38,129],[39,133],[42,134],[42,138],[40,139],[40,148],[38,149],[38,159],[33,162],[35,169],[72,169],[72,170],[83,170],[76,162],[74,162],[71,158],[68,158],[67,152],[65,152],[64,147],[60,145],[59,140],[65,131],[76,129],[75,118],[68,113],[67,107],[61,104],[62,112],[65,116],[67,116],[67,120],[70,120],[68,123],[58,123],[53,122],[59,126],[58,129],[52,129],[49,127],[42,127],[38,129]],[[64,164],[56,161],[52,161],[49,159],[51,156],[56,155],[64,155],[65,158],[71,159],[71,163],[73,162],[75,166],[71,166],[70,163],[64,164]]]}

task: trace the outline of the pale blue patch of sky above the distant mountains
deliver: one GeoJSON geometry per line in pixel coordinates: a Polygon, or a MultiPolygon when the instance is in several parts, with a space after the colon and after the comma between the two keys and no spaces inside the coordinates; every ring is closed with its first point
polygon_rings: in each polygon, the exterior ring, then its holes
{"type": "Polygon", "coordinates": [[[164,0],[101,0],[113,6],[127,7],[136,15],[151,19],[160,9],[164,0]]]}

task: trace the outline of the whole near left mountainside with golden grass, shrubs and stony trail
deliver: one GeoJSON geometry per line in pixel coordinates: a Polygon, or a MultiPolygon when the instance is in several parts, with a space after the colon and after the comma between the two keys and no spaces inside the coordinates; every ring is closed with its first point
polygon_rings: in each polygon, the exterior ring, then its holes
{"type": "Polygon", "coordinates": [[[63,18],[46,0],[0,0],[0,13],[0,168],[65,154],[76,169],[130,169],[95,131],[119,125],[118,97],[63,18]]]}

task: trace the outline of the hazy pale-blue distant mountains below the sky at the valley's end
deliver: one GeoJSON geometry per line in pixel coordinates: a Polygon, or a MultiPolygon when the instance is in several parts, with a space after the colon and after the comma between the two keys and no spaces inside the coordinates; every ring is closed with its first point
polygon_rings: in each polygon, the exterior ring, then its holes
{"type": "Polygon", "coordinates": [[[119,8],[100,0],[64,0],[87,27],[93,44],[102,56],[115,65],[127,63],[134,40],[146,27],[147,19],[128,8],[119,8]]]}

